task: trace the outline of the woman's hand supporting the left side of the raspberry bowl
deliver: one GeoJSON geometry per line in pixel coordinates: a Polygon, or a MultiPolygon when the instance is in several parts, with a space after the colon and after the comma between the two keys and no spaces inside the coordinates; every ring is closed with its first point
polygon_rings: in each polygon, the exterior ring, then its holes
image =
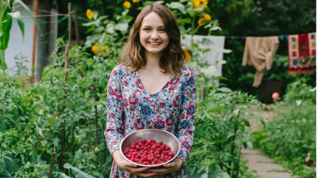
{"type": "Polygon", "coordinates": [[[135,174],[137,176],[141,176],[144,178],[150,178],[152,176],[156,176],[157,173],[146,173],[145,171],[149,170],[150,167],[142,167],[137,168],[137,165],[128,162],[126,159],[122,157],[119,150],[116,150],[112,153],[112,157],[119,168],[129,173],[135,174]]]}

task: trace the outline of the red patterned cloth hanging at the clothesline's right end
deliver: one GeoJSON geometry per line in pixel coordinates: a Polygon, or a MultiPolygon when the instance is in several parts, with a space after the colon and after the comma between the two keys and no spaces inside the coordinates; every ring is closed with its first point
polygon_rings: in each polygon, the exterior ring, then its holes
{"type": "Polygon", "coordinates": [[[289,73],[316,71],[316,33],[288,36],[289,73]]]}

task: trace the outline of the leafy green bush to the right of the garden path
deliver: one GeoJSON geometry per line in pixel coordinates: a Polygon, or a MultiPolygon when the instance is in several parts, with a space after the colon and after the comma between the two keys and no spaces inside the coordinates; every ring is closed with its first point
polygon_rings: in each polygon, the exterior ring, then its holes
{"type": "Polygon", "coordinates": [[[316,92],[308,91],[310,88],[300,81],[290,84],[285,96],[287,102],[272,107],[276,117],[264,130],[256,132],[254,142],[264,154],[299,178],[316,178],[316,164],[304,165],[308,154],[316,162],[316,92]],[[301,102],[296,102],[299,99],[301,102]]]}

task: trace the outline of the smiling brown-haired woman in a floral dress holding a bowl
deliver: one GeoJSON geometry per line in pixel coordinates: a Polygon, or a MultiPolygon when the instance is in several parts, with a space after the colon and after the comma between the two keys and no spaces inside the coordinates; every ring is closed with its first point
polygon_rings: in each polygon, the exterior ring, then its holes
{"type": "Polygon", "coordinates": [[[107,89],[105,136],[113,157],[110,178],[185,178],[195,133],[196,78],[185,64],[173,13],[161,4],[146,6],[121,58],[128,62],[115,66],[107,89]],[[121,140],[152,128],[174,134],[181,143],[180,152],[162,168],[136,168],[120,154],[121,140]]]}

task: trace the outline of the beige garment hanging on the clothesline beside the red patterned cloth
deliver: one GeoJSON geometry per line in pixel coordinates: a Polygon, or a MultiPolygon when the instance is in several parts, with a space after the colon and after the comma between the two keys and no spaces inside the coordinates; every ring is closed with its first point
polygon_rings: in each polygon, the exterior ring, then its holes
{"type": "Polygon", "coordinates": [[[278,48],[277,36],[272,37],[247,37],[244,47],[242,65],[253,65],[256,76],[253,87],[259,87],[263,78],[264,68],[271,69],[273,57],[278,48]]]}

